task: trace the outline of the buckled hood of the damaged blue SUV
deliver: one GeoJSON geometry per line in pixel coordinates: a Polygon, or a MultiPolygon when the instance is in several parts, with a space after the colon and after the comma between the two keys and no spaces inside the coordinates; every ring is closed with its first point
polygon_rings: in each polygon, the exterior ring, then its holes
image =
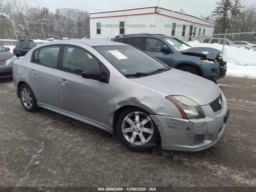
{"type": "Polygon", "coordinates": [[[198,56],[210,59],[215,59],[217,55],[222,53],[220,50],[210,47],[192,47],[180,52],[184,55],[198,56]]]}

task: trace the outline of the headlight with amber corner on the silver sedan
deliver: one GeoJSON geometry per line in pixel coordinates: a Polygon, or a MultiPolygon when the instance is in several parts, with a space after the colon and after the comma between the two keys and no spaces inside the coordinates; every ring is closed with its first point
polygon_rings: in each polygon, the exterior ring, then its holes
{"type": "Polygon", "coordinates": [[[205,118],[204,112],[192,99],[181,95],[166,96],[166,99],[171,101],[180,110],[182,118],[196,119],[205,118]]]}

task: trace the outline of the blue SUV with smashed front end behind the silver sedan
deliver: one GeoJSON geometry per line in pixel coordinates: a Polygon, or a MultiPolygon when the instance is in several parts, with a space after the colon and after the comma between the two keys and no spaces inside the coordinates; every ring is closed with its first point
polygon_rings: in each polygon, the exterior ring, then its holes
{"type": "Polygon", "coordinates": [[[221,51],[214,48],[194,47],[181,40],[161,34],[119,35],[111,41],[129,44],[146,51],[172,68],[213,80],[226,75],[226,62],[221,51]]]}

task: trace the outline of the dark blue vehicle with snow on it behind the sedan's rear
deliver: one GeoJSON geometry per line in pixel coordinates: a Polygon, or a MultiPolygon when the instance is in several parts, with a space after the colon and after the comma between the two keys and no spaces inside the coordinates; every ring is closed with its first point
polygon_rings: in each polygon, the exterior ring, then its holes
{"type": "Polygon", "coordinates": [[[17,57],[24,56],[26,53],[44,42],[49,42],[48,40],[20,40],[16,47],[13,49],[13,54],[17,57]]]}

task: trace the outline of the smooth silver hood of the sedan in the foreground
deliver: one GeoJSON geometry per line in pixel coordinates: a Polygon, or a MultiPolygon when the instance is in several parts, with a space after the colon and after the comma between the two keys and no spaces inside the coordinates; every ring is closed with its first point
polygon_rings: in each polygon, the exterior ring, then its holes
{"type": "Polygon", "coordinates": [[[214,101],[221,93],[220,88],[214,82],[173,68],[166,72],[130,80],[169,95],[186,96],[200,106],[214,101]]]}

